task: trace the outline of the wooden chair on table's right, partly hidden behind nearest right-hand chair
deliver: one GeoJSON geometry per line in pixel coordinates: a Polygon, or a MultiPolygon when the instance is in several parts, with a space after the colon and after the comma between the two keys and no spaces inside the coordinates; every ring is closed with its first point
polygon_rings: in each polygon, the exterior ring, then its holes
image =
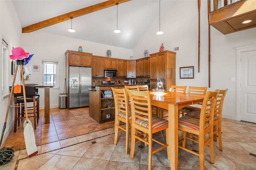
{"type": "MultiPolygon", "coordinates": [[[[215,92],[219,92],[215,104],[214,119],[213,119],[213,139],[214,141],[219,141],[219,149],[222,150],[222,137],[221,137],[221,123],[222,123],[222,107],[224,98],[226,96],[228,89],[219,90],[216,89],[215,92]]],[[[194,117],[200,119],[200,111],[192,111],[187,113],[185,116],[194,117]]]]}

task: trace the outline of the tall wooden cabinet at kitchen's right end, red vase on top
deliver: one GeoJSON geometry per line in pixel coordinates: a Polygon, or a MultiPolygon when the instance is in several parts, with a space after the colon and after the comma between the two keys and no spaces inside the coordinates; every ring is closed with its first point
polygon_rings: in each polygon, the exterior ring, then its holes
{"type": "Polygon", "coordinates": [[[164,90],[169,91],[175,85],[176,53],[162,51],[150,54],[150,89],[157,88],[157,78],[160,78],[164,90]]]}

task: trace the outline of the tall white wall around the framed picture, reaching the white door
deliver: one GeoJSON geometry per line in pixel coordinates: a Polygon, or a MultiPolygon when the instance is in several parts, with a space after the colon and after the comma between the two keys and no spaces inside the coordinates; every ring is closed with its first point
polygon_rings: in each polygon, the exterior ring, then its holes
{"type": "MultiPolygon", "coordinates": [[[[208,17],[207,1],[201,1],[200,8],[200,72],[198,72],[198,3],[197,0],[172,1],[170,6],[161,9],[162,35],[156,35],[159,20],[155,20],[134,48],[135,59],[144,57],[144,49],[149,53],[159,51],[161,43],[166,50],[176,52],[176,85],[208,86],[208,17]],[[164,10],[162,12],[162,10],[164,10]],[[150,42],[150,43],[148,43],[150,42]],[[179,67],[194,66],[194,79],[180,79],[179,67]]],[[[210,88],[226,89],[223,117],[236,117],[236,47],[255,45],[256,28],[223,35],[214,27],[210,28],[210,88]]]]}

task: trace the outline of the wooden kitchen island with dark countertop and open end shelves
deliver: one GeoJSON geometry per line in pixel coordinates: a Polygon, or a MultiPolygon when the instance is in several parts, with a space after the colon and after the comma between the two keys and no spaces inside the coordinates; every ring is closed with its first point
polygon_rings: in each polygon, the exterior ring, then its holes
{"type": "Polygon", "coordinates": [[[96,122],[104,123],[115,119],[113,88],[124,88],[124,84],[94,85],[89,90],[89,114],[96,122]]]}

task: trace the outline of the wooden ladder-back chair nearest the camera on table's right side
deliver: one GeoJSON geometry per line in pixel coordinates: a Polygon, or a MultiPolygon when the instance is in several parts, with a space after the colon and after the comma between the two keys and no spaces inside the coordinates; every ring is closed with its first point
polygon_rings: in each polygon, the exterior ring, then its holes
{"type": "Polygon", "coordinates": [[[179,141],[179,143],[182,143],[182,146],[179,145],[178,147],[199,156],[200,170],[204,170],[205,146],[209,147],[210,162],[214,164],[213,119],[217,96],[218,92],[209,91],[206,93],[202,103],[199,119],[186,115],[178,119],[178,129],[183,131],[182,139],[179,141]],[[205,140],[207,134],[208,139],[205,140]],[[199,144],[199,153],[186,147],[187,140],[191,140],[199,144]]]}

